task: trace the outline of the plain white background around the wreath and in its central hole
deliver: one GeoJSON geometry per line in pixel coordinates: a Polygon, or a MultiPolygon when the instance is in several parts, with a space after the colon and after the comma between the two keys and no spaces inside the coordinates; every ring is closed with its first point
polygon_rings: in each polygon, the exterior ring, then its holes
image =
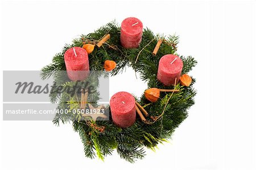
{"type": "MultiPolygon", "coordinates": [[[[1,169],[256,169],[255,1],[1,1],[1,69],[39,70],[73,38],[128,16],[176,32],[177,52],[199,62],[196,104],[170,143],[135,164],[115,152],[102,162],[85,158],[71,125],[1,121],[1,169]]],[[[146,89],[131,70],[110,81],[110,96],[146,89]]]]}

